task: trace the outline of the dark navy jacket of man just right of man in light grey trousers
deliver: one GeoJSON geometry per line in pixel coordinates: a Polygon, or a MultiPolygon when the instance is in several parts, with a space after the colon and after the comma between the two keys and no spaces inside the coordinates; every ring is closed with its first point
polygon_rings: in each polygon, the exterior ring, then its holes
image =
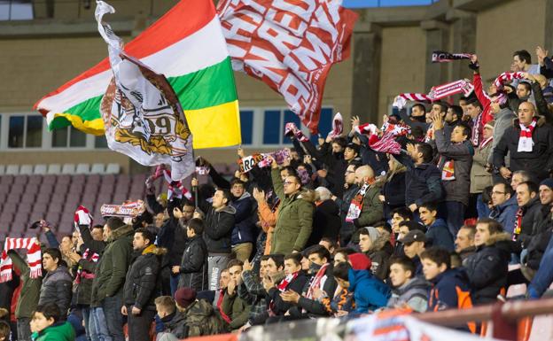
{"type": "Polygon", "coordinates": [[[235,225],[232,229],[230,244],[237,245],[242,243],[253,243],[255,241],[255,211],[257,204],[250,193],[244,192],[240,198],[234,200],[231,204],[235,208],[235,225]]]}

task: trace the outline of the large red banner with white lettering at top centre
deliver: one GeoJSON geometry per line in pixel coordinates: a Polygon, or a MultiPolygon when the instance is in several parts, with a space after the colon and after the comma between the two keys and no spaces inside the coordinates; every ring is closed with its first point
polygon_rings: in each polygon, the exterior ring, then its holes
{"type": "Polygon", "coordinates": [[[217,12],[234,70],[280,93],[316,134],[326,75],[349,57],[357,14],[340,0],[222,0],[217,12]]]}

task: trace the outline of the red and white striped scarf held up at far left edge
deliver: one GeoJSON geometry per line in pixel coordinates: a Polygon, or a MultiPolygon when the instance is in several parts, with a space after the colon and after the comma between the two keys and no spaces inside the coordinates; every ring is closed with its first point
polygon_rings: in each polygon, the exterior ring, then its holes
{"type": "Polygon", "coordinates": [[[0,260],[0,283],[12,280],[12,259],[8,256],[7,252],[16,249],[27,249],[27,263],[31,269],[29,277],[38,278],[43,275],[42,254],[36,237],[6,237],[2,259],[0,260]]]}

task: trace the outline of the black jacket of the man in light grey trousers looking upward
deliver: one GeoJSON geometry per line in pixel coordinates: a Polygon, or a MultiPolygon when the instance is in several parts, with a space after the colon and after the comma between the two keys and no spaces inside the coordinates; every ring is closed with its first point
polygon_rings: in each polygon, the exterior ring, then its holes
{"type": "Polygon", "coordinates": [[[230,238],[235,225],[236,209],[230,205],[215,211],[213,206],[206,201],[200,200],[200,209],[206,213],[204,222],[204,240],[207,251],[210,253],[230,253],[232,251],[230,238]]]}

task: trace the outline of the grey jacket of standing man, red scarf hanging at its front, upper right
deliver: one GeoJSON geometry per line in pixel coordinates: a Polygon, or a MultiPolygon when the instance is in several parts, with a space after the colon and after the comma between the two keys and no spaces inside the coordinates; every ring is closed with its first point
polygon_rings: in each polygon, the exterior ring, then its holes
{"type": "Polygon", "coordinates": [[[458,201],[463,205],[469,205],[469,193],[471,189],[471,167],[474,148],[470,141],[451,143],[449,137],[444,135],[443,129],[438,129],[434,134],[436,146],[440,153],[440,170],[446,161],[453,161],[454,180],[442,181],[446,190],[446,201],[458,201]]]}

